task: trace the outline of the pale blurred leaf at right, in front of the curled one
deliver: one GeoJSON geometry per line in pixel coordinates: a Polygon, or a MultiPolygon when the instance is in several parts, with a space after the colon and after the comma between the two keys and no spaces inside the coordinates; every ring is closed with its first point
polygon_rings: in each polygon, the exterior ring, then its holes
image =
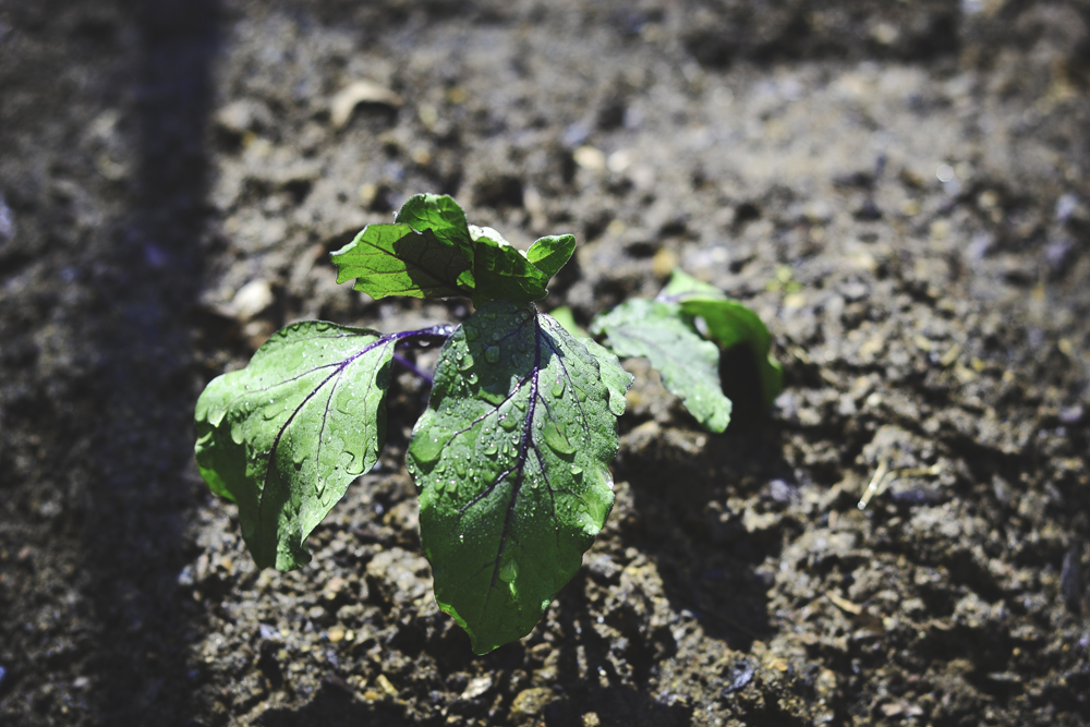
{"type": "Polygon", "coordinates": [[[677,303],[632,299],[591,324],[620,356],[645,356],[658,369],[663,386],[711,432],[730,422],[730,400],[719,384],[719,350],[681,316],[677,303]]]}

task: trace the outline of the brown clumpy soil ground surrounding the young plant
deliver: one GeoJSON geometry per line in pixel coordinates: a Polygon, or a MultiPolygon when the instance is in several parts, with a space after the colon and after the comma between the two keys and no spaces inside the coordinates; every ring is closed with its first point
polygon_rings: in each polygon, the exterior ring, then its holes
{"type": "Polygon", "coordinates": [[[1090,724],[1088,94],[1087,2],[0,0],[0,724],[1090,724]],[[680,265],[785,366],[708,435],[626,362],[607,526],[484,657],[417,379],[303,570],[192,460],[286,323],[469,314],[335,284],[424,191],[576,233],[544,310],[680,265]]]}

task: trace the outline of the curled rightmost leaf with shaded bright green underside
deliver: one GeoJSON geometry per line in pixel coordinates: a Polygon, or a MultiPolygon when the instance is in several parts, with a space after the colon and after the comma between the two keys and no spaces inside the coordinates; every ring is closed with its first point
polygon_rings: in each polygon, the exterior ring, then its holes
{"type": "Polygon", "coordinates": [[[687,316],[699,317],[707,327],[707,338],[729,349],[748,346],[753,353],[761,379],[761,398],[765,407],[784,389],[784,369],[772,355],[772,335],[761,316],[718,288],[700,282],[680,269],[674,270],[669,283],[658,300],[676,301],[687,316]]]}

